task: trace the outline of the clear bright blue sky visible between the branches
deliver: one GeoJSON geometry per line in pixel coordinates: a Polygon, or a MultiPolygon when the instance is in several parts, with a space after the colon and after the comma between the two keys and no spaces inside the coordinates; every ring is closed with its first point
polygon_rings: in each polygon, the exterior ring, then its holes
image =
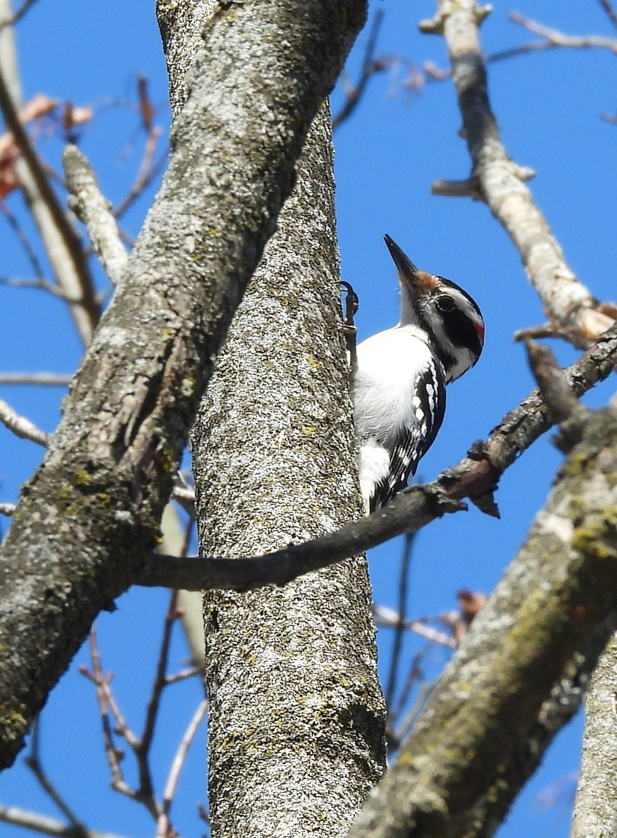
{"type": "MultiPolygon", "coordinates": [[[[39,0],[18,28],[24,97],[45,92],[95,107],[95,120],[84,132],[82,147],[113,201],[125,194],[143,142],[136,115],[115,102],[134,101],[139,73],[148,76],[152,101],[160,106],[158,122],[168,127],[167,80],[152,5],[145,0],[111,0],[103,9],[83,0],[66,0],[61,6],[39,0]]],[[[481,30],[486,54],[533,39],[508,22],[511,11],[569,34],[614,35],[599,3],[525,0],[516,6],[495,6],[481,30]]],[[[486,206],[430,194],[435,179],[465,178],[470,168],[465,142],[457,133],[460,115],[450,82],[427,85],[417,96],[403,89],[409,62],[417,67],[426,60],[440,67],[447,64],[443,40],[419,34],[416,25],[434,12],[434,4],[428,0],[373,2],[371,18],[378,9],[385,17],[377,54],[398,56],[398,61],[393,58],[388,72],[372,80],[361,106],[335,138],[342,277],[360,297],[360,337],[387,328],[398,318],[396,275],[383,245],[386,232],[420,267],[465,287],[486,320],[484,354],[469,375],[449,388],[444,427],[420,466],[421,476],[430,479],[464,456],[471,442],[486,437],[532,388],[522,347],[512,343],[512,334],[517,328],[542,323],[542,305],[527,282],[517,252],[486,206]]],[[[350,58],[352,80],[367,37],[366,32],[360,35],[350,58]]],[[[489,92],[503,142],[517,163],[536,170],[532,192],[570,266],[599,299],[617,297],[617,127],[600,119],[601,113],[617,110],[614,56],[608,50],[553,50],[502,61],[491,65],[489,72],[489,92]]],[[[340,102],[337,90],[335,112],[340,102]]],[[[44,137],[39,147],[59,168],[59,139],[44,137]]],[[[139,230],[151,199],[152,190],[126,216],[124,226],[130,235],[139,230]]],[[[16,194],[8,199],[15,213],[21,212],[20,200],[16,194]]],[[[29,277],[28,263],[6,225],[0,225],[0,241],[0,276],[29,277]]],[[[100,287],[105,287],[99,277],[100,287]]],[[[0,287],[0,301],[2,370],[69,373],[75,369],[80,343],[62,303],[39,291],[7,287],[0,287]]],[[[567,346],[554,344],[554,348],[564,365],[575,357],[567,346]]],[[[605,382],[585,401],[601,406],[612,390],[612,382],[605,382]]],[[[0,397],[48,431],[57,422],[61,396],[61,391],[0,387],[0,397]]],[[[38,447],[15,440],[0,427],[0,500],[16,499],[18,485],[39,459],[38,447]]],[[[559,462],[560,455],[548,439],[537,442],[501,481],[497,494],[501,520],[471,509],[438,521],[419,535],[410,582],[412,616],[454,608],[455,592],[461,587],[491,591],[546,498],[559,462]]],[[[0,523],[6,529],[5,522],[0,523]]],[[[378,603],[394,606],[396,602],[392,580],[400,552],[400,543],[393,542],[370,556],[378,603]]],[[[114,671],[117,694],[137,727],[153,675],[152,636],[160,634],[166,603],[165,592],[131,592],[121,598],[116,613],[100,619],[105,668],[114,671]]],[[[383,631],[379,639],[385,672],[390,638],[383,631]]],[[[414,641],[406,641],[406,654],[417,648],[414,641]]],[[[177,669],[185,656],[178,637],[172,649],[177,669]]],[[[434,650],[428,674],[434,675],[446,657],[445,652],[434,650]]],[[[76,671],[78,664],[87,661],[82,650],[44,711],[44,761],[88,825],[121,835],[152,834],[148,816],[136,804],[108,791],[93,691],[76,671]]],[[[156,744],[157,762],[163,766],[199,698],[195,683],[173,690],[165,701],[156,744]]],[[[568,792],[571,775],[578,768],[581,727],[578,719],[558,738],[542,771],[502,826],[500,838],[513,838],[522,830],[528,838],[568,834],[568,792]],[[558,802],[543,809],[541,795],[555,783],[561,789],[558,802]]],[[[200,830],[194,811],[195,804],[205,800],[203,747],[202,733],[189,756],[172,811],[183,835],[198,835],[200,830]]],[[[0,802],[57,814],[23,767],[0,777],[0,802]]],[[[23,830],[13,827],[3,831],[8,838],[22,834],[23,830]]]]}

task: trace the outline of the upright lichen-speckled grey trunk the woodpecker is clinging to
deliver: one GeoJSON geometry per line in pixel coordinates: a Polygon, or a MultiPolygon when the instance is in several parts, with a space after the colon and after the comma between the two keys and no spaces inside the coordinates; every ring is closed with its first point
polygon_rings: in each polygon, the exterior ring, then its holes
{"type": "MultiPolygon", "coordinates": [[[[205,555],[362,515],[333,198],[324,107],[193,429],[205,555]]],[[[345,835],[385,761],[366,561],[211,592],[205,618],[213,835],[345,835]]]]}

